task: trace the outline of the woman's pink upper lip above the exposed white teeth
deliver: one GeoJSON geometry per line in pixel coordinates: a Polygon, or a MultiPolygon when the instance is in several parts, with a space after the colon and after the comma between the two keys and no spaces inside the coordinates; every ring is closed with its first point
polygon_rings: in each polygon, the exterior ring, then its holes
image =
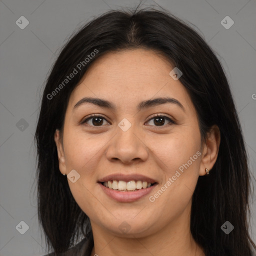
{"type": "Polygon", "coordinates": [[[103,178],[100,178],[98,182],[105,182],[108,180],[123,180],[125,182],[131,181],[131,180],[135,180],[135,181],[141,180],[141,181],[146,181],[147,183],[155,183],[155,182],[157,183],[156,180],[141,174],[137,174],[137,173],[132,173],[128,175],[125,175],[123,173],[113,173],[113,174],[104,176],[103,178]]]}

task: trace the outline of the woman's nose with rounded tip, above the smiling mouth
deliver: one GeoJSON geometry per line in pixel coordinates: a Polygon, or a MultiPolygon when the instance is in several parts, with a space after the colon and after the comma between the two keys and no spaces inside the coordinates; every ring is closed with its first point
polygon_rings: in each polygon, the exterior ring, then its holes
{"type": "Polygon", "coordinates": [[[134,161],[145,161],[148,157],[148,147],[144,135],[138,132],[135,125],[131,125],[126,131],[117,126],[116,135],[110,140],[106,151],[109,161],[121,161],[131,164],[134,161]]]}

